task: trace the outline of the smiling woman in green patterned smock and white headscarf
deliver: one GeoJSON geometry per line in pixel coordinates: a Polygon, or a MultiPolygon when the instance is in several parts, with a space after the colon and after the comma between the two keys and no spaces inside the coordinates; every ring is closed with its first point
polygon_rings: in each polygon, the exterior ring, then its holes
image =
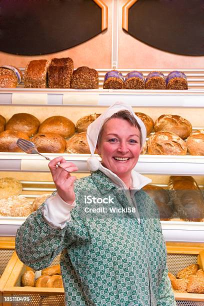
{"type": "Polygon", "coordinates": [[[134,170],[145,137],[116,102],[88,127],[102,159],[90,157],[90,176],[75,180],[63,157],[49,162],[57,192],[18,229],[16,252],[35,270],[61,253],[66,305],[175,305],[155,203],[141,189],[150,179],[134,170]]]}

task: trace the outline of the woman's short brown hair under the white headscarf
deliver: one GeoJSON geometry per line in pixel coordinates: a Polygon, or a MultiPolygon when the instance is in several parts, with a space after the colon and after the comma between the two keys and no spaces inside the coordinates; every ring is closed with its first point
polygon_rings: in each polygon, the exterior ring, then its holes
{"type": "Polygon", "coordinates": [[[139,142],[140,142],[140,147],[141,147],[141,143],[142,143],[142,136],[141,136],[141,127],[139,125],[139,123],[137,122],[137,120],[135,119],[135,117],[131,114],[131,112],[129,110],[123,109],[123,110],[119,110],[115,113],[113,113],[111,115],[111,117],[107,118],[104,122],[103,125],[99,131],[98,134],[98,138],[97,138],[97,146],[98,144],[100,144],[101,141],[101,136],[104,130],[104,125],[107,121],[109,121],[112,118],[118,118],[118,119],[123,119],[123,120],[127,120],[131,126],[135,126],[138,128],[139,130],[139,142]]]}

